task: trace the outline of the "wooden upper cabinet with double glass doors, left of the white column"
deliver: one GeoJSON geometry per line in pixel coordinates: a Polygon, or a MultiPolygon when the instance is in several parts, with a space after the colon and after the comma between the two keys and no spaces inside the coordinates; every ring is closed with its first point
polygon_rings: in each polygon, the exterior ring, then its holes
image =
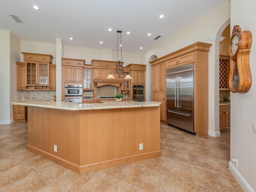
{"type": "Polygon", "coordinates": [[[50,69],[52,55],[25,53],[25,89],[50,90],[50,69]]]}

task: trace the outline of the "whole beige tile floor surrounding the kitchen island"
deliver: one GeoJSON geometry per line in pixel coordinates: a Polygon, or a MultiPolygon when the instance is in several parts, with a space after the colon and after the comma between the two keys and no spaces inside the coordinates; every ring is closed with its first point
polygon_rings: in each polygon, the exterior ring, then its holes
{"type": "Polygon", "coordinates": [[[230,133],[195,137],[161,124],[162,156],[77,174],[26,150],[27,123],[0,125],[2,192],[242,192],[228,170],[230,133]]]}

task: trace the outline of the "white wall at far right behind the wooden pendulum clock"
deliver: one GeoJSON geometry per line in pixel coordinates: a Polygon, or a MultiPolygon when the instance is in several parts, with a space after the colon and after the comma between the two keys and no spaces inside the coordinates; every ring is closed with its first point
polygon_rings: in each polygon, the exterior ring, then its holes
{"type": "Polygon", "coordinates": [[[256,133],[252,131],[252,122],[256,122],[256,1],[231,0],[230,6],[230,29],[240,25],[242,31],[252,33],[249,56],[252,86],[245,94],[230,94],[230,157],[238,159],[238,168],[230,161],[230,170],[240,183],[245,180],[250,186],[244,187],[245,191],[256,191],[256,133]]]}

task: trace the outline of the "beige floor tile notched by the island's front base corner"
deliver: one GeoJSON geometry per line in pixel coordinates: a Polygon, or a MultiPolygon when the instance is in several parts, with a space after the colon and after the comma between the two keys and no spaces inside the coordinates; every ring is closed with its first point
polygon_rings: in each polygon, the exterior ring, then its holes
{"type": "Polygon", "coordinates": [[[68,170],[55,181],[73,192],[78,192],[90,181],[94,174],[96,174],[96,171],[78,174],[68,170]]]}

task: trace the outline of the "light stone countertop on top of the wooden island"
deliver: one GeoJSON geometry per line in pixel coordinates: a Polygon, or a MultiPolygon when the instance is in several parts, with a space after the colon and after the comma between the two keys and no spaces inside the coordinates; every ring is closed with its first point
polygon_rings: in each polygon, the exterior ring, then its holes
{"type": "Polygon", "coordinates": [[[69,103],[47,101],[47,98],[28,99],[22,101],[10,102],[12,105],[35,106],[62,110],[97,110],[97,109],[115,109],[115,108],[137,108],[137,107],[156,107],[160,102],[145,101],[138,102],[132,100],[124,101],[102,101],[102,103],[69,103]]]}

